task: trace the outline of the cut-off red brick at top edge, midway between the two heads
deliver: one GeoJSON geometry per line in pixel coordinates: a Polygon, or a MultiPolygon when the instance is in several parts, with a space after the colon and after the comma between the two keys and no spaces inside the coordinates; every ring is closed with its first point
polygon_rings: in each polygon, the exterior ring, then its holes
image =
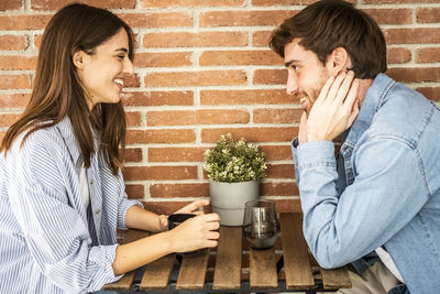
{"type": "Polygon", "coordinates": [[[142,8],[240,7],[244,0],[141,0],[142,8]]]}

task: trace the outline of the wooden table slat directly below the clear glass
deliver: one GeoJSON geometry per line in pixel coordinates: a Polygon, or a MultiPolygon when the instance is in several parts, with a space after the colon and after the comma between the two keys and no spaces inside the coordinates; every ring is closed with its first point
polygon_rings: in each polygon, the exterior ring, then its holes
{"type": "Polygon", "coordinates": [[[265,250],[251,249],[249,270],[252,288],[278,287],[274,248],[265,250]]]}

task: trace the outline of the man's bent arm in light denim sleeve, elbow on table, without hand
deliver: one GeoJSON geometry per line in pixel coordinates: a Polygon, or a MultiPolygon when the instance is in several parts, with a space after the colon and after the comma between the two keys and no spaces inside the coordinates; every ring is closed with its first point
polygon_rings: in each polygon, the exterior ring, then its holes
{"type": "Polygon", "coordinates": [[[340,197],[333,152],[328,141],[297,150],[305,237],[323,268],[346,264],[384,244],[429,197],[416,151],[403,140],[375,137],[354,150],[356,177],[340,197]]]}

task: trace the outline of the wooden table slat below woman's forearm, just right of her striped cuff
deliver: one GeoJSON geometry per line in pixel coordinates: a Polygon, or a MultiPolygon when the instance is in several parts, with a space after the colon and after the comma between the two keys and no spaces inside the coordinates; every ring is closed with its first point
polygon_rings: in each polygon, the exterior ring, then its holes
{"type": "Polygon", "coordinates": [[[146,264],[139,288],[165,290],[168,285],[175,260],[175,254],[169,254],[146,264]]]}

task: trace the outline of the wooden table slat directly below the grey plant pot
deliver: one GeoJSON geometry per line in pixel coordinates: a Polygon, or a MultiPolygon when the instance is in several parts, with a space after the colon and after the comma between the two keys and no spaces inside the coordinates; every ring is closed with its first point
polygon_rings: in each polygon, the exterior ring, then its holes
{"type": "Polygon", "coordinates": [[[213,290],[235,290],[241,284],[242,227],[220,227],[213,290]]]}

